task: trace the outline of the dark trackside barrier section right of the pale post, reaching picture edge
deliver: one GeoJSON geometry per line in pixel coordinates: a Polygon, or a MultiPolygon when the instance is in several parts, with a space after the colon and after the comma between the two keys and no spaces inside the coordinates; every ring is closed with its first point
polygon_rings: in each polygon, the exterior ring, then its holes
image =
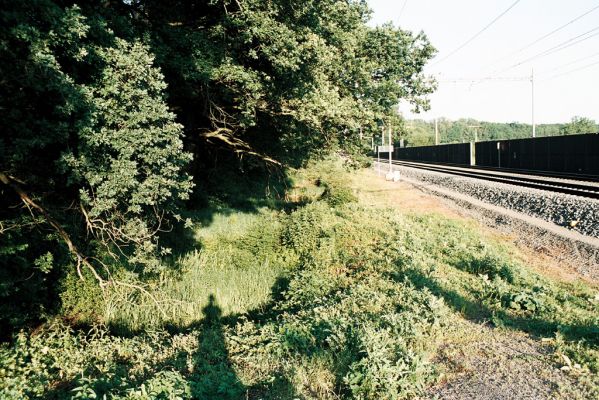
{"type": "Polygon", "coordinates": [[[599,135],[478,142],[475,164],[532,171],[599,175],[599,135]]]}

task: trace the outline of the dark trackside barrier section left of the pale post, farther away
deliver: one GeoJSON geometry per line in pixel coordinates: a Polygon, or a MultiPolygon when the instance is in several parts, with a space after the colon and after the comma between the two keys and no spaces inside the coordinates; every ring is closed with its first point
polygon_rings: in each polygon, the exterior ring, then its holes
{"type": "Polygon", "coordinates": [[[396,148],[395,160],[470,165],[470,143],[396,148]]]}

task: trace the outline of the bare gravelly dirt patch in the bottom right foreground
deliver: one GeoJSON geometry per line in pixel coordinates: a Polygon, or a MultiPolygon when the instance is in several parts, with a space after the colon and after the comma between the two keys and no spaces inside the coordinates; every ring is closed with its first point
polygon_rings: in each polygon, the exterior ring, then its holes
{"type": "Polygon", "coordinates": [[[424,398],[565,399],[580,393],[573,390],[581,385],[577,377],[555,363],[551,343],[520,332],[466,324],[470,326],[460,331],[468,331],[467,336],[450,338],[441,347],[436,361],[447,370],[424,398]]]}

